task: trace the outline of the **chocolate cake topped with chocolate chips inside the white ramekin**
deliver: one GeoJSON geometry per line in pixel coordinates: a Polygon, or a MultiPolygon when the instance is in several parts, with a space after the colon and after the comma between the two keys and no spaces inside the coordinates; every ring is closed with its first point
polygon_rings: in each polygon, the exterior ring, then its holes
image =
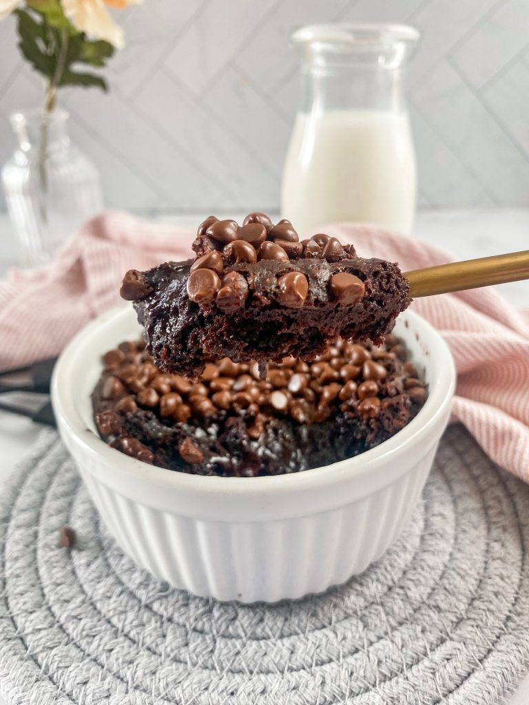
{"type": "MultiPolygon", "coordinates": [[[[160,270],[159,270],[160,271],[160,270]]],[[[341,339],[312,362],[225,358],[200,381],[165,374],[145,343],[104,355],[92,394],[114,448],[170,470],[255,477],[298,472],[363,453],[416,415],[426,390],[394,336],[382,348],[341,339]]]]}

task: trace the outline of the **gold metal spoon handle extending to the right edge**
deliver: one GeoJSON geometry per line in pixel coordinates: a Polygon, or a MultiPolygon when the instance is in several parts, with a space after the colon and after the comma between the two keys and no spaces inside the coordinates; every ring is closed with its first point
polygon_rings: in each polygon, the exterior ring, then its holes
{"type": "Polygon", "coordinates": [[[412,298],[529,279],[529,250],[404,272],[412,298]]]}

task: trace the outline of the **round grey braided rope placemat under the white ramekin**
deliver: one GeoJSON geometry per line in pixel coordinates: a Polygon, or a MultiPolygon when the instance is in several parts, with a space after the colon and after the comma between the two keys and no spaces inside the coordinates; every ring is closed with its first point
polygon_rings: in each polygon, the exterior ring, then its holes
{"type": "Polygon", "coordinates": [[[8,705],[499,705],[529,670],[529,487],[462,427],[381,560],[272,606],[197,598],[136,567],[54,431],[0,505],[8,705]]]}

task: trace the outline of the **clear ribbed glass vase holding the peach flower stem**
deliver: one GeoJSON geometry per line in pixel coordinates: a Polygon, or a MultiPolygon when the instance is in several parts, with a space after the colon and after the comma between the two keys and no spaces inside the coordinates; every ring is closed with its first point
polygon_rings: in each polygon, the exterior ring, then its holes
{"type": "Polygon", "coordinates": [[[102,189],[94,164],[68,137],[68,113],[17,112],[11,125],[18,146],[1,177],[21,264],[36,266],[102,210],[102,189]]]}

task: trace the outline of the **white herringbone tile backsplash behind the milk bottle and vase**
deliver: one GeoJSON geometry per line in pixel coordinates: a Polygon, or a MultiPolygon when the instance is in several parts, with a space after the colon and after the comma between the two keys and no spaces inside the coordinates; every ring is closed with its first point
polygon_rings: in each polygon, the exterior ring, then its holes
{"type": "MultiPolygon", "coordinates": [[[[298,99],[288,35],[332,20],[422,31],[408,80],[420,204],[529,206],[529,0],[144,0],[118,20],[111,92],[63,94],[109,207],[276,208],[298,99]]],[[[14,30],[0,23],[0,162],[8,114],[42,101],[14,30]]]]}

